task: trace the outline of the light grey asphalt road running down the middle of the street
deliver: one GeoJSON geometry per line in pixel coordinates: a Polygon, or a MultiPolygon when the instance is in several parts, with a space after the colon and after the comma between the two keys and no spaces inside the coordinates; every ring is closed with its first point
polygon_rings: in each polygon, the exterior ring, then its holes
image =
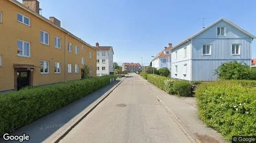
{"type": "Polygon", "coordinates": [[[60,143],[191,143],[166,109],[131,74],[60,143]],[[119,107],[118,104],[125,104],[119,107]]]}

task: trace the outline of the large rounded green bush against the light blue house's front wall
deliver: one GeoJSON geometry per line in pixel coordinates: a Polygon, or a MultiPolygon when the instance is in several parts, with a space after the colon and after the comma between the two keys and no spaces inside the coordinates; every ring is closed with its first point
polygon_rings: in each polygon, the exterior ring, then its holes
{"type": "Polygon", "coordinates": [[[256,72],[246,64],[237,61],[222,63],[215,74],[221,80],[256,80],[256,72]]]}

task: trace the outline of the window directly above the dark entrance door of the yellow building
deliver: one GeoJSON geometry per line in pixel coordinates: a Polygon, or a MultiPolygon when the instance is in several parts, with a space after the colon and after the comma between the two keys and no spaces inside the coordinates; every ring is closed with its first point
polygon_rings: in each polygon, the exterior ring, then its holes
{"type": "Polygon", "coordinates": [[[18,56],[30,57],[30,42],[18,40],[18,56]]]}

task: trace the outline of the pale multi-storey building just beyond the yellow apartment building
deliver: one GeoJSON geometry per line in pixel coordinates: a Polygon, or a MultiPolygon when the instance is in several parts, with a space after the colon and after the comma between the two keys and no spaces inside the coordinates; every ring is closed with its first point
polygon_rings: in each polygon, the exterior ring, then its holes
{"type": "Polygon", "coordinates": [[[96,74],[97,76],[104,76],[114,72],[113,66],[113,47],[112,46],[100,46],[96,43],[95,49],[97,50],[96,55],[96,74]]]}

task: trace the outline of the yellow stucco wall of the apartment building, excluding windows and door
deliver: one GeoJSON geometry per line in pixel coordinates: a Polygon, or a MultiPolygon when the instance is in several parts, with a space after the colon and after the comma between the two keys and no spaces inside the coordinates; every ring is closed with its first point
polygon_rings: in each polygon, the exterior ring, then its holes
{"type": "MultiPolygon", "coordinates": [[[[41,74],[40,68],[33,72],[33,86],[65,82],[65,36],[68,42],[73,44],[72,53],[67,53],[67,64],[72,63],[72,73],[66,72],[67,81],[81,79],[81,57],[85,58],[86,65],[92,65],[91,76],[96,76],[96,50],[81,41],[67,35],[35,16],[33,13],[24,10],[9,0],[0,0],[0,11],[2,12],[2,23],[0,23],[0,55],[2,55],[2,66],[0,66],[0,91],[14,89],[14,68],[13,64],[31,64],[40,67],[40,61],[49,61],[49,74],[41,74]],[[27,26],[17,21],[17,13],[21,13],[31,20],[27,26]],[[49,33],[49,45],[40,43],[40,30],[49,33]],[[54,37],[61,38],[61,49],[54,47],[54,37]],[[17,40],[28,41],[31,46],[31,57],[17,56],[17,40]],[[75,54],[75,45],[79,46],[79,54],[75,54]],[[84,45],[84,50],[81,49],[84,45]],[[88,51],[88,54],[87,54],[88,51]],[[92,59],[89,58],[92,52],[92,59]],[[54,62],[61,62],[61,73],[54,73],[54,62]],[[75,64],[79,64],[79,73],[75,73],[75,64]]],[[[68,48],[68,46],[67,46],[68,48]]],[[[66,66],[67,71],[67,66],[66,66]]]]}

